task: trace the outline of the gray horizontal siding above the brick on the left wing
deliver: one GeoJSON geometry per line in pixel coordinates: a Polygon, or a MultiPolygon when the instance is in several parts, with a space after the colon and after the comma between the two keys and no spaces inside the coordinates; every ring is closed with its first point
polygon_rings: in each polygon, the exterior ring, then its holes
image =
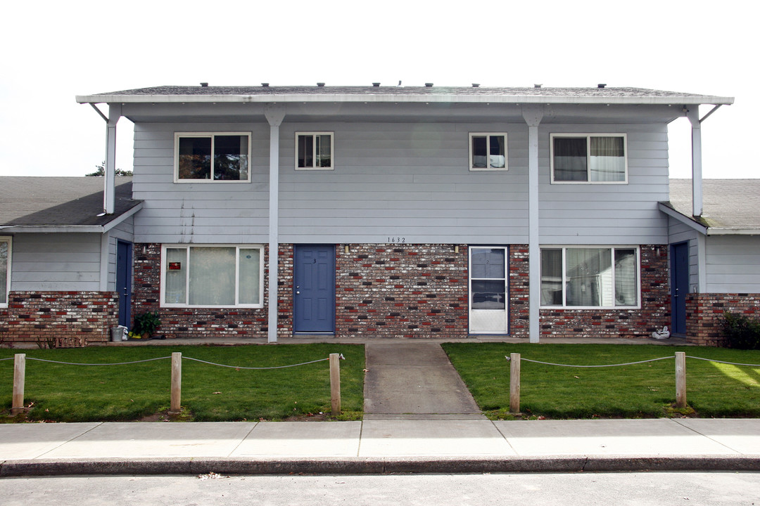
{"type": "Polygon", "coordinates": [[[11,290],[100,290],[100,234],[17,234],[11,290]]]}

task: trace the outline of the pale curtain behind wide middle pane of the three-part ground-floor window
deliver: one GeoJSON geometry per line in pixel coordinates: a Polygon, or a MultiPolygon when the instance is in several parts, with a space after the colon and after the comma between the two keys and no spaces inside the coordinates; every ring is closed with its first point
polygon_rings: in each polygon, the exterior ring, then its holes
{"type": "Polygon", "coordinates": [[[190,305],[235,305],[234,247],[192,247],[189,268],[190,305]]]}

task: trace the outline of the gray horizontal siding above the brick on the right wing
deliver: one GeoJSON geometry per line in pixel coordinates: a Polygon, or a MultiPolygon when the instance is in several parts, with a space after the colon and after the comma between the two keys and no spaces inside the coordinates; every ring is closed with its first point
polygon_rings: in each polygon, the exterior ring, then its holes
{"type": "Polygon", "coordinates": [[[760,236],[707,237],[708,293],[760,293],[760,236]]]}

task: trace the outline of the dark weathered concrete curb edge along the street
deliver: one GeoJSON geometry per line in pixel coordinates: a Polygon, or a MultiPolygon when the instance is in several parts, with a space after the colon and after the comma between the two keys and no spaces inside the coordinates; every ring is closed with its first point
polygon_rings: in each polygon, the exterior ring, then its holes
{"type": "Polygon", "coordinates": [[[158,474],[581,473],[760,471],[760,455],[144,458],[5,460],[0,477],[158,474]]]}

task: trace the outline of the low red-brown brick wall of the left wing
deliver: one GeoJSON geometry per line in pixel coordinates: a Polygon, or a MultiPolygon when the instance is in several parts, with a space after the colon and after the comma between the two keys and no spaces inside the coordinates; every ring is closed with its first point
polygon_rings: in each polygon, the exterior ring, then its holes
{"type": "Polygon", "coordinates": [[[119,297],[100,291],[11,291],[0,309],[0,340],[21,346],[80,347],[110,340],[119,297]]]}

